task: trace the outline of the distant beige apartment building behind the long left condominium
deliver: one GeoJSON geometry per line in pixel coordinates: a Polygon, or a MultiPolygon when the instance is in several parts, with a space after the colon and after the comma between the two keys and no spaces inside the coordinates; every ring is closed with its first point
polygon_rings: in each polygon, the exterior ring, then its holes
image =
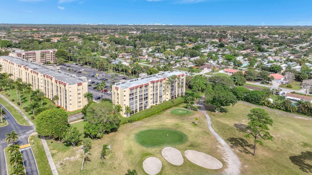
{"type": "Polygon", "coordinates": [[[36,63],[54,63],[57,58],[55,57],[56,49],[53,50],[40,50],[40,51],[22,51],[10,53],[10,56],[19,57],[28,60],[29,62],[36,63]]]}

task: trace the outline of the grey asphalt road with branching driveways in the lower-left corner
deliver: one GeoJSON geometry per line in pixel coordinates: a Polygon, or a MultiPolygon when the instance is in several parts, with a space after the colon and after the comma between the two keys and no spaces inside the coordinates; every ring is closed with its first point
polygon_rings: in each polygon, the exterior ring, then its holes
{"type": "MultiPolygon", "coordinates": [[[[2,107],[2,105],[0,105],[2,107]]],[[[13,116],[10,114],[5,107],[3,107],[6,114],[4,115],[5,119],[9,123],[6,126],[0,127],[0,175],[7,175],[6,174],[6,164],[5,164],[5,156],[4,156],[4,148],[6,148],[7,142],[5,142],[5,134],[10,133],[11,131],[15,130],[19,134],[19,140],[16,143],[20,143],[20,145],[28,144],[28,137],[36,132],[35,126],[23,126],[16,122],[13,116]]],[[[31,151],[31,149],[30,149],[31,151]]],[[[28,152],[27,152],[28,153],[28,152]]],[[[32,152],[31,152],[32,154],[32,152]]],[[[27,163],[25,166],[27,175],[39,175],[36,165],[35,157],[28,156],[29,154],[23,155],[24,162],[27,163]]]]}

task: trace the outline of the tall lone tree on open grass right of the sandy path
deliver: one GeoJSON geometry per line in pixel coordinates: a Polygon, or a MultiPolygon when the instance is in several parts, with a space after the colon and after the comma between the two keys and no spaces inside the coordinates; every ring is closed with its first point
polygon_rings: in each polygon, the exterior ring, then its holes
{"type": "Polygon", "coordinates": [[[256,149],[256,143],[263,145],[262,140],[273,140],[273,137],[268,132],[270,128],[268,125],[273,124],[273,120],[269,116],[269,114],[261,108],[254,108],[250,110],[251,113],[249,113],[248,119],[250,120],[247,124],[247,132],[248,134],[246,137],[253,136],[254,138],[254,156],[255,156],[255,149],[256,149]]]}

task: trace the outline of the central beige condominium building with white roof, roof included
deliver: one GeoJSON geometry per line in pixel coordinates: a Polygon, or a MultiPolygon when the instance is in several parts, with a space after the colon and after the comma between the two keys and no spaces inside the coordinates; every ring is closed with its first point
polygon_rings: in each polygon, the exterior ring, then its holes
{"type": "Polygon", "coordinates": [[[129,115],[125,112],[126,106],[131,108],[132,113],[136,113],[184,94],[185,74],[179,71],[157,73],[112,86],[112,102],[121,105],[121,115],[124,117],[129,115]],[[176,75],[175,81],[170,81],[172,75],[176,75]]]}

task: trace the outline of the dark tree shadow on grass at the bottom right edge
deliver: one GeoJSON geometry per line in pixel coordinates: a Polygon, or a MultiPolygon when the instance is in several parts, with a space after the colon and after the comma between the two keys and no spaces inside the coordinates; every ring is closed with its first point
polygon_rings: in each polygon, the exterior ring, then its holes
{"type": "Polygon", "coordinates": [[[312,164],[307,163],[306,160],[312,161],[312,152],[301,152],[298,156],[289,157],[292,163],[299,166],[299,169],[305,173],[312,173],[312,164]]]}

